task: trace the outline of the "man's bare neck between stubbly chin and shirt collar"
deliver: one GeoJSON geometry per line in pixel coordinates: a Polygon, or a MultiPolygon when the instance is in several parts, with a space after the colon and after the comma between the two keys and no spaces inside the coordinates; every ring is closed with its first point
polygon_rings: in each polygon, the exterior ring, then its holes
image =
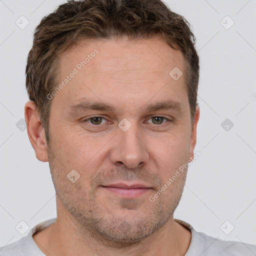
{"type": "Polygon", "coordinates": [[[64,209],[57,210],[56,221],[35,233],[33,239],[47,256],[128,254],[131,256],[185,255],[191,233],[175,222],[173,215],[156,232],[132,244],[109,240],[83,226],[64,209]]]}

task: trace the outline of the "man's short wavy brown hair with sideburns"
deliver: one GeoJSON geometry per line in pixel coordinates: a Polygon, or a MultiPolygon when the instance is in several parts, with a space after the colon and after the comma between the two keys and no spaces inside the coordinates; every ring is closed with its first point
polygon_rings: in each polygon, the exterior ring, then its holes
{"type": "MultiPolygon", "coordinates": [[[[48,134],[51,93],[58,84],[58,56],[80,39],[151,38],[161,34],[166,43],[183,53],[191,119],[196,109],[199,57],[195,37],[183,16],[161,0],[68,0],[43,17],[35,28],[27,57],[26,88],[35,102],[48,134]]],[[[48,141],[48,140],[47,140],[48,141]]]]}

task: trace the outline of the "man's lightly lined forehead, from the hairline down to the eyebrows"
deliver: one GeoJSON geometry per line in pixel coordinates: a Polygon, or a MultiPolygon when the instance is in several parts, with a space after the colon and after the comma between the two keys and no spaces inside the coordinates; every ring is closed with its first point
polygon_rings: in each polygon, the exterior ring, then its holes
{"type": "Polygon", "coordinates": [[[187,97],[183,55],[161,37],[81,40],[59,59],[59,83],[68,81],[54,101],[61,98],[73,104],[86,95],[109,102],[120,98],[125,102],[132,97],[141,103],[153,94],[153,99],[187,97]],[[173,68],[183,73],[178,80],[169,74],[173,68]]]}

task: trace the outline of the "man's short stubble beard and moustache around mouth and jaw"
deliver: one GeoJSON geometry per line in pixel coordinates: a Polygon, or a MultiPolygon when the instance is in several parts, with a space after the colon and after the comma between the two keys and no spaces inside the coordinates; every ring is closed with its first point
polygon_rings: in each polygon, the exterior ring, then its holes
{"type": "Polygon", "coordinates": [[[109,176],[107,173],[110,173],[110,176],[122,179],[140,179],[151,182],[153,180],[153,184],[157,184],[157,187],[160,188],[163,183],[160,176],[151,174],[149,178],[148,172],[142,169],[129,173],[128,176],[127,172],[122,172],[122,169],[101,170],[91,179],[90,190],[88,190],[80,183],[80,180],[70,184],[66,175],[61,173],[63,166],[53,155],[48,158],[56,196],[70,213],[74,225],[77,226],[77,231],[86,236],[89,232],[90,237],[95,238],[96,241],[100,241],[102,244],[107,244],[109,247],[132,246],[160,230],[173,216],[185,182],[184,175],[181,177],[182,181],[180,180],[183,182],[182,185],[172,184],[175,186],[171,193],[165,191],[154,202],[148,200],[143,208],[140,205],[144,202],[144,199],[119,198],[116,208],[125,210],[125,213],[117,215],[114,209],[110,211],[108,207],[104,207],[106,201],[97,198],[99,180],[104,180],[109,176]],[[138,208],[141,209],[137,210],[138,208]],[[137,211],[136,214],[133,213],[134,210],[137,211]]]}

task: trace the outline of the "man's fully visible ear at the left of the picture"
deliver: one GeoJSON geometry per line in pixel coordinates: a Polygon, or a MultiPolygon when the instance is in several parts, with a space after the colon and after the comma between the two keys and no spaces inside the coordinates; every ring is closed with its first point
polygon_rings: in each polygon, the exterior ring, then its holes
{"type": "Polygon", "coordinates": [[[33,101],[25,103],[25,121],[29,141],[35,151],[36,158],[42,162],[48,161],[45,131],[39,119],[39,114],[33,101]]]}

